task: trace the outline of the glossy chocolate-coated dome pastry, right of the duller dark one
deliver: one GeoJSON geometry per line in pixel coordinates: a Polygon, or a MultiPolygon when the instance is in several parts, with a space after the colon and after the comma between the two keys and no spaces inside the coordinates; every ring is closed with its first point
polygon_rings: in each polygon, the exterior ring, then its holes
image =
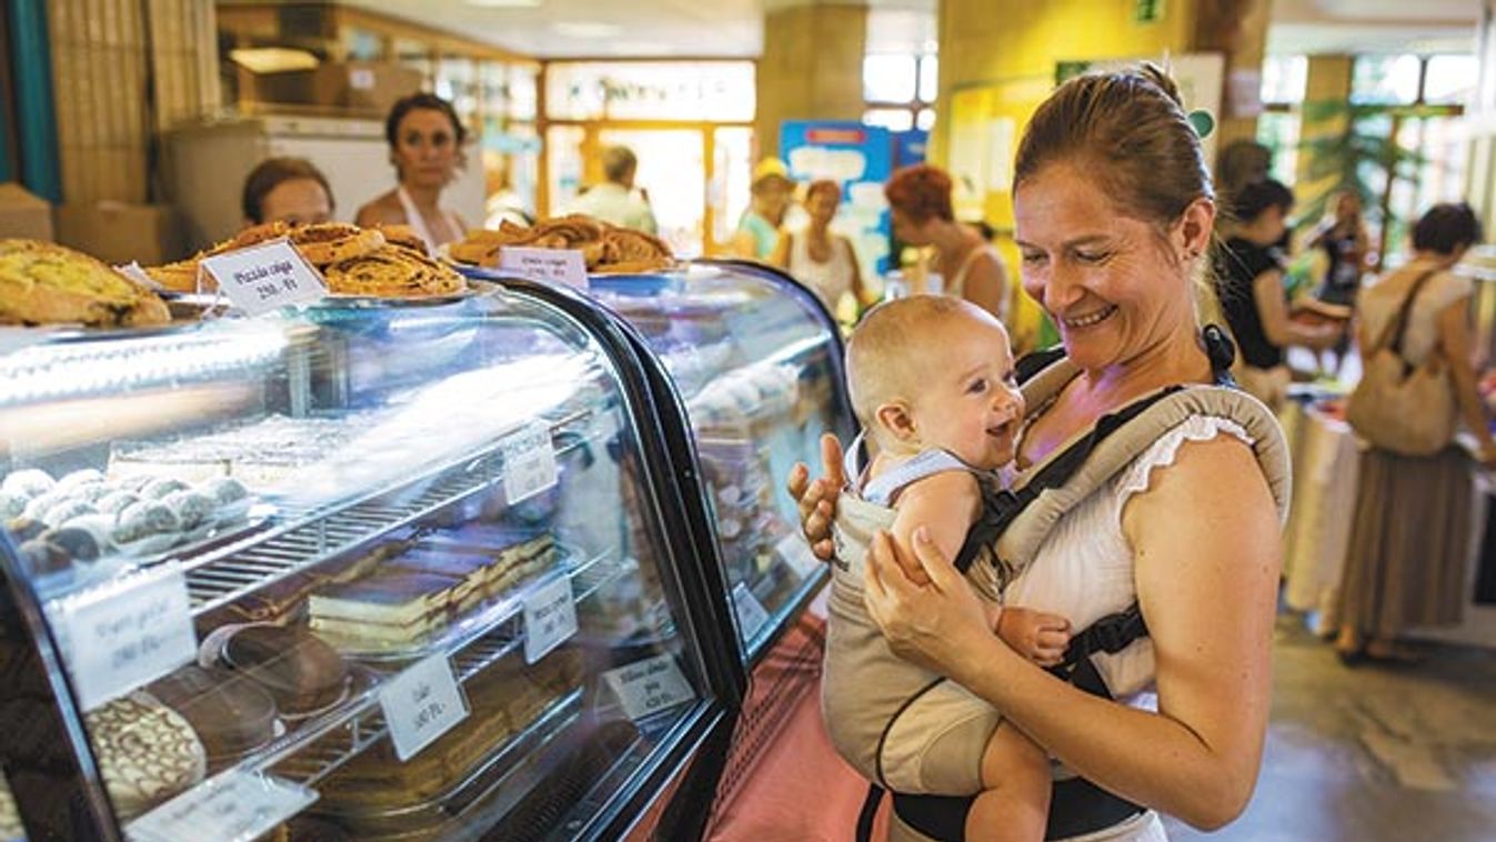
{"type": "Polygon", "coordinates": [[[268,689],[287,718],[319,713],[349,692],[349,666],[302,628],[245,625],[221,646],[218,663],[268,689]]]}

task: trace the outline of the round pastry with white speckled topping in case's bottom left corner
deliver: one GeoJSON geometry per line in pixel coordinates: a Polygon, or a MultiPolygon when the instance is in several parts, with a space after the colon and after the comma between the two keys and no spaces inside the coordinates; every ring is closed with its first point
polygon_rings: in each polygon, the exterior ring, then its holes
{"type": "Polygon", "coordinates": [[[208,755],[191,725],[148,692],[115,698],[84,716],[109,802],[135,818],[202,781],[208,755]]]}

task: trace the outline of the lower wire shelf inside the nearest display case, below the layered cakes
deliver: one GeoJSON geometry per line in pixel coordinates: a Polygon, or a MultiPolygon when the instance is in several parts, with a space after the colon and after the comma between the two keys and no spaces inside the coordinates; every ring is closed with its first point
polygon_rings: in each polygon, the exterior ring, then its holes
{"type": "MultiPolygon", "coordinates": [[[[459,682],[467,683],[500,660],[519,655],[525,642],[521,615],[524,601],[531,592],[555,582],[557,576],[567,576],[571,579],[574,601],[582,603],[598,594],[624,571],[624,565],[613,550],[568,567],[565,562],[574,556],[567,552],[558,564],[561,570],[519,588],[501,603],[476,615],[474,619],[480,622],[464,622],[462,628],[470,630],[467,634],[444,640],[450,646],[447,652],[459,682]]],[[[524,755],[525,746],[533,746],[537,740],[543,742],[548,728],[557,727],[558,719],[574,715],[579,701],[579,689],[560,697],[524,731],[510,737],[506,748],[488,766],[513,752],[524,755]]],[[[305,787],[316,787],[384,739],[387,733],[389,728],[380,707],[378,683],[374,683],[358,697],[323,713],[314,722],[287,733],[238,766],[220,772],[218,776],[233,772],[268,773],[305,787]]],[[[188,790],[184,796],[190,796],[190,793],[188,790]]]]}

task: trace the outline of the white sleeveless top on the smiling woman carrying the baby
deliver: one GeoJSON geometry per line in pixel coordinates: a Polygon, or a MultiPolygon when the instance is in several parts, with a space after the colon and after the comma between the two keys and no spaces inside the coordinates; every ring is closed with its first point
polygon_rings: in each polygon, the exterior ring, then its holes
{"type": "MultiPolygon", "coordinates": [[[[1234,420],[1191,416],[1140,453],[1107,485],[1067,511],[1040,544],[1034,561],[1020,570],[1004,592],[1004,603],[1053,612],[1073,628],[1125,610],[1137,601],[1132,549],[1122,534],[1126,501],[1147,491],[1153,471],[1177,459],[1186,441],[1234,437],[1255,441],[1234,420]]],[[[1107,688],[1123,704],[1156,707],[1153,643],[1144,637],[1115,655],[1092,655],[1107,688]]]]}

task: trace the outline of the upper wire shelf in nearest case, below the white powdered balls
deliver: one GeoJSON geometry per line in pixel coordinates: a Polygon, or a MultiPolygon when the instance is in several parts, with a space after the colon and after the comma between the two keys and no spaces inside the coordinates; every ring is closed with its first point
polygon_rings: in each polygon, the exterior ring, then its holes
{"type": "MultiPolygon", "coordinates": [[[[552,441],[591,414],[591,410],[582,410],[552,422],[552,441]]],[[[557,449],[557,458],[583,444],[586,440],[580,437],[567,441],[557,449]]],[[[476,453],[465,453],[416,477],[387,483],[353,501],[301,511],[283,508],[278,525],[183,559],[193,615],[217,610],[483,492],[503,482],[503,464],[501,440],[495,440],[476,453]],[[440,479],[432,482],[432,477],[440,479]],[[399,500],[401,492],[423,483],[431,485],[408,500],[399,500]],[[399,503],[392,504],[390,500],[399,503]]]]}

